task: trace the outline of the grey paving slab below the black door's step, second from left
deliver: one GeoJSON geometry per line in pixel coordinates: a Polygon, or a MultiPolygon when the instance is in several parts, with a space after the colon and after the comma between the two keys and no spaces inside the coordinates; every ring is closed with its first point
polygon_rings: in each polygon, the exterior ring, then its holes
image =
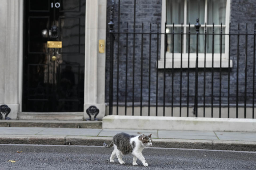
{"type": "Polygon", "coordinates": [[[97,136],[102,129],[47,128],[37,135],[78,135],[97,136]]]}

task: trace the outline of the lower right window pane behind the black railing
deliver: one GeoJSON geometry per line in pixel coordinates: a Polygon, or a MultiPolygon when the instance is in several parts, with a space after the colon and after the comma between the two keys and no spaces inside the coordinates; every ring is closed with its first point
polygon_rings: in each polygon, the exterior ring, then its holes
{"type": "MultiPolygon", "coordinates": [[[[207,28],[207,33],[213,33],[213,28],[207,28]]],[[[214,33],[221,33],[221,28],[214,28],[214,33]]],[[[222,33],[225,33],[225,28],[222,28],[222,33]]],[[[212,53],[213,35],[206,36],[206,52],[212,53]]],[[[221,35],[214,35],[214,53],[220,53],[221,35]]],[[[225,35],[222,35],[222,53],[225,53],[225,35]]]]}

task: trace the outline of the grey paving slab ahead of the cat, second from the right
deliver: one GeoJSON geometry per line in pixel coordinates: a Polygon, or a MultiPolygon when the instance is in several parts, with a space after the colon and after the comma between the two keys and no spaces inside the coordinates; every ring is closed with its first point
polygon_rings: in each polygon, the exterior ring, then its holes
{"type": "Polygon", "coordinates": [[[213,131],[158,130],[158,138],[218,140],[213,131]]]}

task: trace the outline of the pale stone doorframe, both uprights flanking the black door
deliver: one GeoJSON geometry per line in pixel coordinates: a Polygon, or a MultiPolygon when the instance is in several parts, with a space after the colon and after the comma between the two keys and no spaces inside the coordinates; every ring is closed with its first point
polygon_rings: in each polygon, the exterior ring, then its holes
{"type": "MultiPolygon", "coordinates": [[[[0,4],[0,104],[11,108],[8,115],[17,119],[22,111],[23,0],[2,0],[0,4]]],[[[105,116],[105,57],[98,52],[98,40],[106,39],[106,0],[86,1],[85,94],[86,109],[95,105],[97,118],[105,116]]]]}

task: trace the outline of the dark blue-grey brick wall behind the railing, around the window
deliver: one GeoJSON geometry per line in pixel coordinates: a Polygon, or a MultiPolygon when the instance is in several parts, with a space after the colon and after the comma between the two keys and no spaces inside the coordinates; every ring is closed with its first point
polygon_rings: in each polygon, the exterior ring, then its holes
{"type": "MultiPolygon", "coordinates": [[[[111,1],[107,1],[107,23],[109,22],[111,1]]],[[[157,24],[161,30],[161,0],[136,1],[136,22],[135,31],[141,32],[141,24],[144,23],[144,32],[149,32],[149,24],[152,23],[152,32],[157,31],[157,24]]],[[[248,23],[248,31],[253,33],[256,20],[256,4],[253,0],[231,0],[230,22],[231,33],[237,33],[237,25],[240,23],[240,32],[245,33],[245,24],[248,23]]],[[[126,31],[128,23],[129,32],[133,32],[134,0],[122,0],[120,4],[120,32],[126,31]]],[[[193,23],[194,21],[191,21],[193,23]]],[[[118,1],[115,0],[114,7],[114,29],[118,32],[118,1]]],[[[108,32],[108,30],[107,30],[108,32]]],[[[115,35],[114,45],[114,101],[117,98],[117,53],[118,36],[115,35]]],[[[126,35],[119,35],[119,101],[125,101],[125,67],[126,67],[126,35]]],[[[151,80],[150,80],[150,101],[156,102],[156,61],[157,61],[157,38],[152,35],[151,41],[151,80]]],[[[109,91],[109,35],[107,34],[107,55],[106,55],[106,103],[108,102],[109,91]]],[[[236,103],[236,70],[237,70],[237,36],[231,36],[230,58],[233,60],[233,68],[230,70],[230,103],[236,103]]],[[[240,36],[239,41],[239,104],[244,103],[245,85],[245,36],[240,36]]],[[[160,54],[160,37],[159,37],[160,54]]],[[[248,62],[247,62],[247,104],[252,103],[252,79],[253,79],[253,36],[248,36],[248,62]]],[[[159,55],[160,57],[160,55],[159,55]]],[[[132,100],[132,76],[133,76],[133,35],[128,36],[128,86],[127,101],[132,100]]],[[[174,70],[174,104],[180,101],[180,69],[174,70]]],[[[141,91],[141,34],[135,36],[135,102],[140,101],[141,91]]],[[[163,69],[158,69],[158,103],[163,101],[163,69]]],[[[171,69],[166,70],[166,103],[171,103],[171,69]]],[[[195,69],[190,69],[189,74],[189,103],[194,103],[195,93],[195,69]]],[[[198,77],[198,103],[203,103],[203,69],[199,69],[198,77]]],[[[219,68],[214,69],[214,104],[219,103],[219,68]]],[[[228,69],[222,68],[222,104],[227,103],[228,69]]],[[[143,102],[148,102],[149,93],[149,35],[143,37],[143,102]]],[[[182,103],[187,103],[187,69],[182,71],[182,103]]],[[[211,69],[206,69],[206,104],[211,103],[211,69]]]]}

